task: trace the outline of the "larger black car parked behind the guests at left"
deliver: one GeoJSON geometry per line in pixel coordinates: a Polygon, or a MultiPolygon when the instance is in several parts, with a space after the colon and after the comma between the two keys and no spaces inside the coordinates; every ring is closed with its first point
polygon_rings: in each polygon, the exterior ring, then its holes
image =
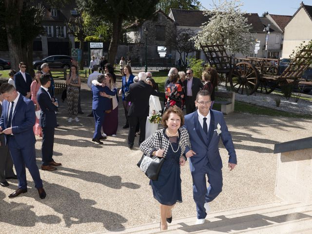
{"type": "Polygon", "coordinates": [[[67,55],[52,55],[42,60],[33,61],[33,67],[39,70],[42,63],[47,62],[50,68],[69,69],[72,65],[72,61],[72,57],[67,55]]]}

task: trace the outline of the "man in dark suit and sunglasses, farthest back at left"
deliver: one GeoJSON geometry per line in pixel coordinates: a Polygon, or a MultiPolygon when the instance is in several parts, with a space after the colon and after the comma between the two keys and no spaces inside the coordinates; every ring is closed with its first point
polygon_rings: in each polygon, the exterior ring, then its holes
{"type": "Polygon", "coordinates": [[[15,88],[22,96],[30,98],[32,78],[26,73],[26,64],[24,62],[20,62],[19,67],[20,71],[14,75],[15,88]]]}

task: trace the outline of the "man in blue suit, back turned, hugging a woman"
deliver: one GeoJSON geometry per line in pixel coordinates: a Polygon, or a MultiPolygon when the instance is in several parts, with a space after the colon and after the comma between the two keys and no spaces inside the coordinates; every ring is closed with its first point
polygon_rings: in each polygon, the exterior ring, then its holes
{"type": "Polygon", "coordinates": [[[106,98],[104,96],[105,94],[115,96],[117,93],[117,89],[115,88],[114,91],[112,91],[107,86],[104,85],[105,75],[99,75],[98,82],[102,83],[103,86],[92,85],[91,87],[93,95],[92,111],[95,121],[95,131],[92,141],[98,142],[99,144],[103,144],[103,142],[100,141],[99,139],[101,138],[101,127],[105,118],[105,111],[112,110],[112,103],[110,98],[106,98]]]}

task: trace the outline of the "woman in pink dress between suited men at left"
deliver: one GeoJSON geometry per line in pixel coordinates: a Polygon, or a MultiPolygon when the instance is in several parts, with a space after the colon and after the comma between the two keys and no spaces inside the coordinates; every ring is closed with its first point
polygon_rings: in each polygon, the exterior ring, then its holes
{"type": "MultiPolygon", "coordinates": [[[[39,103],[37,101],[37,92],[39,91],[39,88],[41,86],[40,76],[41,76],[41,72],[37,72],[35,74],[35,80],[30,85],[31,100],[36,105],[36,111],[41,110],[39,103]]],[[[40,127],[39,118],[37,117],[37,115],[36,115],[36,123],[34,125],[34,133],[36,136],[42,137],[42,129],[40,127]]]]}

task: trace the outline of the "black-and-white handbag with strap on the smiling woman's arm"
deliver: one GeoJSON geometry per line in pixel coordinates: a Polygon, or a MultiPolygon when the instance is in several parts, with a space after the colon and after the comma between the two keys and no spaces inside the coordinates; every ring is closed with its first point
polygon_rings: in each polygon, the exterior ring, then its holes
{"type": "MultiPolygon", "coordinates": [[[[160,147],[162,146],[162,138],[161,134],[158,133],[160,139],[160,147]]],[[[141,169],[141,171],[150,179],[157,180],[159,176],[159,172],[162,164],[165,161],[164,157],[153,156],[150,157],[148,155],[143,154],[141,159],[138,161],[137,166],[141,169]]]]}

